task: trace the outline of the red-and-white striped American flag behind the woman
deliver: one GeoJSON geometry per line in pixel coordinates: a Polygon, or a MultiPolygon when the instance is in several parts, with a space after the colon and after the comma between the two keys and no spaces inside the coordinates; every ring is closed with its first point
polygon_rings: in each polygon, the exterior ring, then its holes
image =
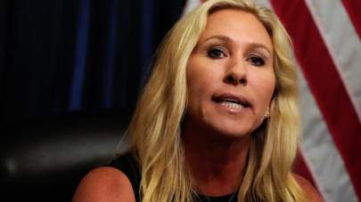
{"type": "MultiPolygon", "coordinates": [[[[189,0],[185,12],[201,0],[189,0]]],[[[256,0],[288,30],[300,77],[299,173],[326,201],[361,198],[361,1],[256,0]]]]}

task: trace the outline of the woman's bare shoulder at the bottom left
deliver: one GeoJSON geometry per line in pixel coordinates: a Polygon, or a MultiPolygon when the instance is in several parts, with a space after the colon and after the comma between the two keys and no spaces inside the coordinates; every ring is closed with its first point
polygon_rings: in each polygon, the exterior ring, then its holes
{"type": "Polygon", "coordinates": [[[79,183],[72,202],[134,201],[135,194],[127,175],[110,166],[98,167],[79,183]]]}

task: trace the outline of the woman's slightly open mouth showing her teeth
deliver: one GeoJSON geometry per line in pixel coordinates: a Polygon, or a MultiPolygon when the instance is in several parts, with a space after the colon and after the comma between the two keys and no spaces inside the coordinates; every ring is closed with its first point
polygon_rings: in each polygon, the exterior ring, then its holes
{"type": "Polygon", "coordinates": [[[230,109],[243,109],[250,107],[249,101],[241,96],[229,93],[212,96],[212,101],[215,101],[230,109]]]}

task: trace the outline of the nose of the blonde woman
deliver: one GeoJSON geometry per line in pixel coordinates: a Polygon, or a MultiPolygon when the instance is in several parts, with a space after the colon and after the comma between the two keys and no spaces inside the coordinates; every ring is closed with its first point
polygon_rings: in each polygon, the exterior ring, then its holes
{"type": "Polygon", "coordinates": [[[230,85],[247,85],[247,67],[242,61],[231,62],[226,70],[224,82],[230,85]]]}

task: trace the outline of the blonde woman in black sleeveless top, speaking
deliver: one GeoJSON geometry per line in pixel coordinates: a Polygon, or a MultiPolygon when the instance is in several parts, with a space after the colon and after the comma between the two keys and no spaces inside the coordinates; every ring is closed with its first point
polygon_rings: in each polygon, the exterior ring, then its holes
{"type": "Polygon", "coordinates": [[[299,139],[290,39],[250,0],[210,0],[160,46],[131,150],[73,201],[321,201],[291,173],[299,139]]]}

